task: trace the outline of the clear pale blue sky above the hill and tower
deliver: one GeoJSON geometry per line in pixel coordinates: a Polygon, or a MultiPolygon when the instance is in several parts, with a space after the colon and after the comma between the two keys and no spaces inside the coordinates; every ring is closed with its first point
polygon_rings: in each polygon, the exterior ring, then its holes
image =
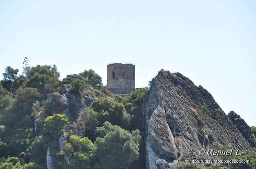
{"type": "Polygon", "coordinates": [[[160,69],[206,88],[228,114],[256,126],[255,0],[1,0],[0,79],[6,66],[56,64],[61,79],[136,65],[136,87],[160,69]]]}

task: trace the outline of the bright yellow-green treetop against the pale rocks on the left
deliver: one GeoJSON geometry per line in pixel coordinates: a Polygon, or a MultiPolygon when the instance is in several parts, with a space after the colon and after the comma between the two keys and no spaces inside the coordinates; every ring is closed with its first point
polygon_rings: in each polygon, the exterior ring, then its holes
{"type": "Polygon", "coordinates": [[[51,138],[58,139],[64,132],[64,128],[69,126],[68,117],[62,114],[54,114],[48,116],[44,122],[44,134],[51,140],[51,138]]]}

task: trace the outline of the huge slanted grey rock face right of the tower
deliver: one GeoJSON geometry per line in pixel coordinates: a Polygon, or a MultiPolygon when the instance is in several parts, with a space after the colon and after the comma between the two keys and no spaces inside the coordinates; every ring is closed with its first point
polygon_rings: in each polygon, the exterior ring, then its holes
{"type": "Polygon", "coordinates": [[[147,169],[173,168],[178,160],[187,158],[217,159],[199,155],[199,151],[218,150],[221,145],[240,151],[252,149],[212,95],[180,73],[161,70],[152,79],[142,112],[146,116],[147,169]],[[208,111],[201,109],[203,105],[208,111]]]}

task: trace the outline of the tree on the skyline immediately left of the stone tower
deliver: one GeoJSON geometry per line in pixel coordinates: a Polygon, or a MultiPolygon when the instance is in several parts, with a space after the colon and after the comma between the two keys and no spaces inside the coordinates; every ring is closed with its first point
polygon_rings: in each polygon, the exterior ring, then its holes
{"type": "Polygon", "coordinates": [[[84,77],[88,82],[88,85],[91,87],[102,86],[102,78],[92,69],[90,69],[89,71],[84,70],[84,72],[79,73],[79,75],[84,77]]]}

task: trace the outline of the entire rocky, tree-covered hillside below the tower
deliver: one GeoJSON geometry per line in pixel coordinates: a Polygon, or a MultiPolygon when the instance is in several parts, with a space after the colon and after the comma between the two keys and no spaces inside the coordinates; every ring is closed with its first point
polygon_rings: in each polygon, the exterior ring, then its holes
{"type": "Polygon", "coordinates": [[[93,70],[62,81],[56,65],[15,72],[0,81],[0,169],[256,168],[256,128],[180,73],[161,70],[121,97],[93,70]],[[250,163],[186,163],[224,158],[250,163]]]}

